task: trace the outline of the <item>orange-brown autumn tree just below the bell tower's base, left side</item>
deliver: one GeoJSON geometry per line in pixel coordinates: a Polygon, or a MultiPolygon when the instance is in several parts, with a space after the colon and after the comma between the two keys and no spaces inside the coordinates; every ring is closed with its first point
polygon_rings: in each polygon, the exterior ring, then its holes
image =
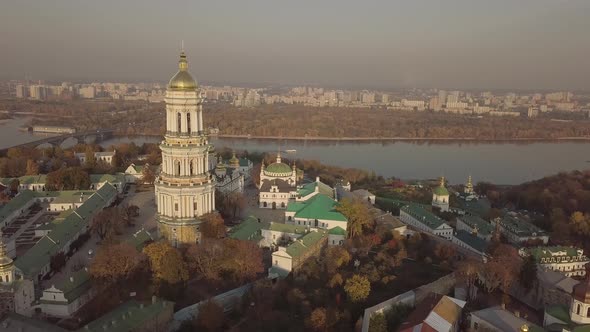
{"type": "Polygon", "coordinates": [[[182,255],[168,242],[150,243],[143,248],[143,253],[147,256],[156,284],[166,282],[174,285],[188,280],[188,270],[182,255]]]}

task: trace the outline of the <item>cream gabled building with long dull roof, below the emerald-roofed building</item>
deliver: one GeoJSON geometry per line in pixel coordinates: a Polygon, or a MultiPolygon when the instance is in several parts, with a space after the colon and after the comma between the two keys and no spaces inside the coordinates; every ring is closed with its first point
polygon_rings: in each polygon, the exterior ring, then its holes
{"type": "Polygon", "coordinates": [[[272,253],[272,266],[268,270],[270,278],[286,277],[310,257],[318,255],[328,242],[324,230],[311,231],[286,247],[279,247],[272,253]]]}

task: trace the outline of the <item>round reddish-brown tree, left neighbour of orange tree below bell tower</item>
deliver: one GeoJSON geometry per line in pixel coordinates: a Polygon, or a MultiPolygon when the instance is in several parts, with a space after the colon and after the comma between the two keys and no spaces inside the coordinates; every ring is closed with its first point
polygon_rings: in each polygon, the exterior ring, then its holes
{"type": "Polygon", "coordinates": [[[127,243],[100,246],[90,264],[90,275],[103,285],[120,285],[133,282],[141,270],[144,257],[127,243]]]}

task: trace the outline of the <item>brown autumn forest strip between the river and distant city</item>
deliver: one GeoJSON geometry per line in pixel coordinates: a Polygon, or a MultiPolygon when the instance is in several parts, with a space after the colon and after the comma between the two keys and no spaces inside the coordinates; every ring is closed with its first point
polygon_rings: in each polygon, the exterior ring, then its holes
{"type": "MultiPolygon", "coordinates": [[[[35,113],[31,125],[72,126],[81,131],[110,128],[122,135],[162,135],[165,131],[163,103],[15,100],[2,102],[1,109],[35,113]]],[[[236,108],[206,103],[203,121],[206,128],[218,128],[221,135],[474,140],[590,138],[590,120],[582,114],[543,114],[529,119],[384,108],[302,105],[236,108]],[[568,120],[554,121],[551,117],[568,120]]]]}

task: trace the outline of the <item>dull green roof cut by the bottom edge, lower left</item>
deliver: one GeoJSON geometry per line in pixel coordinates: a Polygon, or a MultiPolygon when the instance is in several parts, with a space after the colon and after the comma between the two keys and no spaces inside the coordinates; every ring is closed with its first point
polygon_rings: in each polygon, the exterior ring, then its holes
{"type": "MultiPolygon", "coordinates": [[[[153,320],[164,310],[172,311],[174,302],[157,300],[155,303],[141,306],[137,301],[131,300],[125,302],[104,316],[92,321],[80,331],[100,331],[104,332],[127,332],[136,331],[146,322],[153,320]],[[115,322],[115,324],[113,324],[115,322]]],[[[164,323],[164,322],[159,322],[164,323]]],[[[143,326],[147,328],[147,326],[143,326]]]]}

